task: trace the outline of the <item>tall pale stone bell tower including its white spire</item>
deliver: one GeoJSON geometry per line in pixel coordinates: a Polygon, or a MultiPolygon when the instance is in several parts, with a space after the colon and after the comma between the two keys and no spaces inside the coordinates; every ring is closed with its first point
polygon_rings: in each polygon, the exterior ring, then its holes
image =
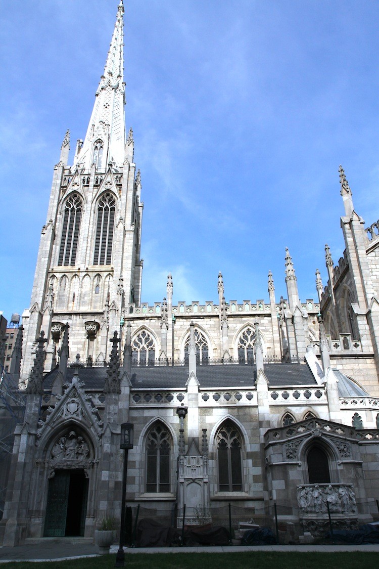
{"type": "Polygon", "coordinates": [[[73,354],[106,360],[109,331],[120,328],[124,304],[140,303],[143,204],[133,131],[125,130],[123,14],[120,0],[84,141],[77,141],[70,166],[67,131],[54,168],[31,304],[23,314],[23,381],[41,331],[48,340],[45,371],[56,365],[66,323],[73,354]]]}

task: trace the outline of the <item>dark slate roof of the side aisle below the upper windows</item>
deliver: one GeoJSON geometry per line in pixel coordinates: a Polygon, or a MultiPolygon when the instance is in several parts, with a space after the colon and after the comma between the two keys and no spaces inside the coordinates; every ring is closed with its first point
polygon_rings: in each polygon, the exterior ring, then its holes
{"type": "MultiPolygon", "coordinates": [[[[306,364],[267,364],[265,375],[272,387],[317,385],[306,364]]],[[[44,388],[51,389],[58,370],[45,376],[44,388]]],[[[68,368],[66,381],[71,381],[73,368],[68,368]]],[[[79,377],[86,389],[101,390],[106,378],[106,368],[81,368],[79,377]]],[[[253,387],[257,377],[255,365],[199,365],[197,378],[201,387],[221,389],[253,387]]],[[[134,389],[185,389],[188,366],[152,366],[132,368],[131,382],[134,389]]]]}

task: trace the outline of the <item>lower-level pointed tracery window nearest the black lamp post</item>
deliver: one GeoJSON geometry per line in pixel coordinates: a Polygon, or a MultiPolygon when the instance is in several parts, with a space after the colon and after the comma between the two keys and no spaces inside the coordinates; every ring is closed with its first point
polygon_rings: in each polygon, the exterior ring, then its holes
{"type": "Polygon", "coordinates": [[[170,435],[158,423],[146,441],[146,492],[170,491],[170,435]]]}

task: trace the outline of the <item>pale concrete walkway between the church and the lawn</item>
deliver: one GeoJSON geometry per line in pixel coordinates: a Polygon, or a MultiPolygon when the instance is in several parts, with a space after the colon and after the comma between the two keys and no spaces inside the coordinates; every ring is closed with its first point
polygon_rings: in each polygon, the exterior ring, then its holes
{"type": "MultiPolygon", "coordinates": [[[[111,546],[116,554],[117,545],[111,546]]],[[[220,547],[134,547],[125,549],[127,555],[135,553],[240,553],[242,551],[377,551],[379,545],[269,545],[269,546],[220,546],[220,547]]],[[[0,547],[0,563],[11,561],[63,561],[83,557],[97,557],[99,549],[93,543],[73,543],[66,540],[49,540],[44,543],[30,543],[16,547],[0,547]]]]}

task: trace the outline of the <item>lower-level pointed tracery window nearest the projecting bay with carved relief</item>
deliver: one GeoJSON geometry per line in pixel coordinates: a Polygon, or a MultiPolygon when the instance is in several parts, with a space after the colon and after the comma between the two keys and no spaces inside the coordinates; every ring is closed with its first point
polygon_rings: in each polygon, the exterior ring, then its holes
{"type": "Polygon", "coordinates": [[[216,436],[219,492],[242,490],[241,435],[231,421],[216,436]]]}

